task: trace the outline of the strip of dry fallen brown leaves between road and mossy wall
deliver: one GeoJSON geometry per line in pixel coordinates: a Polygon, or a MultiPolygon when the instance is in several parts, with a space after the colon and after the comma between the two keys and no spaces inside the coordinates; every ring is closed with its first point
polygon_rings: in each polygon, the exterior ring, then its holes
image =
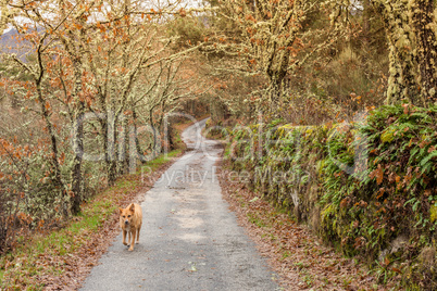
{"type": "Polygon", "coordinates": [[[265,256],[287,290],[386,290],[369,269],[323,245],[311,230],[218,172],[222,193],[239,224],[265,256]]]}

